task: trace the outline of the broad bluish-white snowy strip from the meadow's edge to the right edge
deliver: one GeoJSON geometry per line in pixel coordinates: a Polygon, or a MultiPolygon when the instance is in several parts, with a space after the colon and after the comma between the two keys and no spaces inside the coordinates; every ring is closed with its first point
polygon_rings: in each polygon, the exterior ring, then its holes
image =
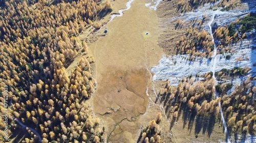
{"type": "MultiPolygon", "coordinates": [[[[217,54],[216,55],[216,71],[221,69],[233,69],[234,67],[250,67],[252,70],[250,74],[255,76],[256,69],[252,63],[256,62],[256,49],[252,49],[252,45],[256,41],[244,40],[237,44],[232,44],[231,47],[234,50],[232,53],[217,54]],[[231,54],[230,59],[225,59],[225,55],[231,54]],[[239,57],[242,57],[242,61],[237,62],[239,57]]],[[[159,65],[151,68],[151,71],[155,74],[153,80],[169,80],[171,84],[178,85],[179,80],[182,77],[189,75],[195,76],[196,74],[204,74],[212,71],[214,68],[214,59],[209,60],[207,58],[197,57],[195,61],[187,61],[189,57],[187,54],[178,54],[174,56],[163,55],[159,61],[159,65]]]]}

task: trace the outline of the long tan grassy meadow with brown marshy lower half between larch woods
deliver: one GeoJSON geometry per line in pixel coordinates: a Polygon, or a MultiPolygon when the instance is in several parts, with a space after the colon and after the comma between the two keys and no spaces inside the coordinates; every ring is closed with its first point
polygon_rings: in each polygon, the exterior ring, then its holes
{"type": "MultiPolygon", "coordinates": [[[[157,46],[155,11],[145,7],[144,1],[134,1],[131,9],[123,13],[106,25],[109,32],[105,37],[90,45],[96,58],[98,82],[94,111],[105,122],[110,142],[136,141],[143,121],[140,115],[146,111],[149,100],[145,92],[151,80],[147,67],[156,65],[162,55],[157,46]]],[[[104,27],[99,32],[103,30],[104,27]]],[[[143,118],[152,120],[155,114],[147,113],[143,118]]]]}

